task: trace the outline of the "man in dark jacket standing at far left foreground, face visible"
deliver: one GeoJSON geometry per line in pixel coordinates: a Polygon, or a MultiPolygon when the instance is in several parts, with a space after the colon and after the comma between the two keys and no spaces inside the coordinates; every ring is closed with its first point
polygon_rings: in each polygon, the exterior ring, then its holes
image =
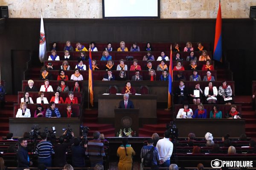
{"type": "Polygon", "coordinates": [[[29,165],[32,165],[32,161],[30,161],[29,154],[26,149],[28,142],[24,138],[21,138],[19,142],[20,147],[17,151],[18,167],[29,167],[29,165]]]}

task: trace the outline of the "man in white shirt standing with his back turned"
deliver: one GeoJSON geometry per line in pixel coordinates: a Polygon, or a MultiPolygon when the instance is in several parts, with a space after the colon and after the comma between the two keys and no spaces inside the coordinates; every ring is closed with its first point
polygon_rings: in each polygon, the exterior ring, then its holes
{"type": "Polygon", "coordinates": [[[169,167],[170,166],[170,158],[172,156],[173,144],[169,140],[170,131],[166,130],[164,132],[164,138],[160,139],[157,142],[157,149],[159,151],[160,159],[163,160],[163,164],[160,167],[169,167]]]}

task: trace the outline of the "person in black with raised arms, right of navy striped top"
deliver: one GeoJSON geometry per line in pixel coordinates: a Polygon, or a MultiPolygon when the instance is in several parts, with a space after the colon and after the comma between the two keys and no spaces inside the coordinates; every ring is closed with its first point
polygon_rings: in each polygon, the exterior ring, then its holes
{"type": "Polygon", "coordinates": [[[69,128],[65,129],[65,132],[59,137],[58,143],[54,145],[55,167],[64,167],[64,165],[67,164],[66,151],[67,148],[74,143],[74,139],[74,133],[71,132],[69,128]],[[69,138],[71,138],[70,141],[68,143],[64,143],[65,139],[69,140],[69,138]]]}

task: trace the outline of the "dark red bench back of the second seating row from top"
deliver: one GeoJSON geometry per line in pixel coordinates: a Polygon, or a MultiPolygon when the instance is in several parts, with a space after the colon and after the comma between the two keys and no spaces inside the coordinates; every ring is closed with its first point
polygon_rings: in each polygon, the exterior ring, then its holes
{"type": "MultiPolygon", "coordinates": [[[[177,52],[172,52],[172,58],[176,56],[177,52]]],[[[80,56],[81,52],[70,52],[72,60],[76,60],[80,56]]],[[[87,56],[89,56],[89,52],[85,52],[87,56]]],[[[51,52],[47,52],[47,56],[45,60],[48,60],[49,55],[51,55],[51,52]]],[[[57,55],[60,57],[60,60],[64,60],[64,52],[58,51],[57,55]]],[[[109,55],[112,56],[112,60],[120,60],[126,58],[126,56],[133,56],[134,59],[137,59],[138,61],[142,61],[144,55],[147,55],[147,52],[109,52],[109,55]]],[[[159,56],[161,56],[160,51],[151,52],[151,55],[154,55],[154,59],[157,60],[159,56]]],[[[170,57],[170,51],[166,51],[165,55],[170,57]]],[[[199,56],[202,55],[202,52],[194,52],[194,56],[199,58],[199,56]]],[[[212,58],[212,52],[208,52],[208,55],[210,58],[212,58]]],[[[180,57],[183,58],[183,60],[186,60],[186,57],[189,56],[189,52],[180,52],[180,57]]],[[[99,61],[102,58],[102,52],[92,52],[92,59],[95,59],[96,61],[99,61]]]]}

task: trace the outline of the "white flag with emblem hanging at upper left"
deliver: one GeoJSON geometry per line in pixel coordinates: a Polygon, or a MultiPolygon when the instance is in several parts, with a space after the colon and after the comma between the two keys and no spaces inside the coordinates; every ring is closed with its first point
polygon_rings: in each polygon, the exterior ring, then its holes
{"type": "Polygon", "coordinates": [[[43,20],[43,14],[41,13],[41,28],[40,28],[40,41],[39,41],[39,60],[44,62],[44,58],[46,55],[46,40],[45,40],[45,34],[44,34],[44,20],[43,20]]]}

